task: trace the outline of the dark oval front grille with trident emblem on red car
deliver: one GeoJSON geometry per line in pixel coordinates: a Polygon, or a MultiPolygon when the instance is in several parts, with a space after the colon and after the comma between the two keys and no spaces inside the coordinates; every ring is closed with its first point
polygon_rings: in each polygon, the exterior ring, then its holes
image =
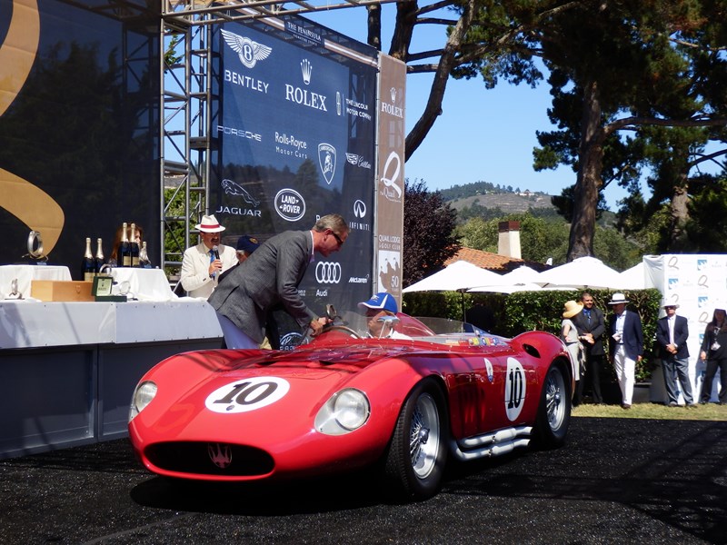
{"type": "Polygon", "coordinates": [[[267,452],[227,443],[165,442],[150,445],[145,453],[156,467],[178,473],[254,477],[274,470],[267,452]]]}

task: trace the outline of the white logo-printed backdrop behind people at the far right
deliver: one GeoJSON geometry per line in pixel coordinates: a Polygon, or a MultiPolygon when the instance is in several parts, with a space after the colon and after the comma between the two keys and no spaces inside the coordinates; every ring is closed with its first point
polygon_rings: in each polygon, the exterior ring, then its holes
{"type": "MultiPolygon", "coordinates": [[[[648,279],[647,285],[653,285],[662,292],[663,303],[678,304],[677,314],[688,321],[689,374],[694,400],[699,401],[704,375],[704,362],[699,360],[699,353],[704,331],[707,323],[712,322],[714,309],[727,308],[727,275],[724,273],[727,269],[727,255],[717,253],[646,255],[643,257],[643,266],[648,279]]],[[[662,310],[659,317],[663,315],[662,310]]],[[[712,401],[717,401],[719,376],[717,372],[712,382],[712,401]]],[[[661,369],[655,373],[654,381],[663,389],[661,369]]],[[[657,394],[660,399],[655,401],[663,401],[666,398],[663,390],[657,394]]],[[[681,396],[680,400],[683,402],[681,396]]]]}

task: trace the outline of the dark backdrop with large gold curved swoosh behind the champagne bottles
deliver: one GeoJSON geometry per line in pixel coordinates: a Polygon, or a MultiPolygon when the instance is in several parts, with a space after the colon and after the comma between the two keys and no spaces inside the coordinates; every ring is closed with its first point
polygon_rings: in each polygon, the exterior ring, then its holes
{"type": "Polygon", "coordinates": [[[0,264],[36,263],[40,232],[75,280],[85,238],[108,258],[122,222],[161,253],[160,3],[92,4],[0,0],[0,264]]]}

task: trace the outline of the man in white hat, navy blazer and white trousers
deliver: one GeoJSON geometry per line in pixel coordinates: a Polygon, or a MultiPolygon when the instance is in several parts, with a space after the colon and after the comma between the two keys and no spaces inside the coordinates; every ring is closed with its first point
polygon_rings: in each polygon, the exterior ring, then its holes
{"type": "Polygon", "coordinates": [[[621,388],[623,409],[631,409],[636,362],[642,361],[643,353],[642,319],[636,312],[626,310],[627,302],[623,293],[618,292],[608,302],[613,307],[609,352],[621,388]]]}

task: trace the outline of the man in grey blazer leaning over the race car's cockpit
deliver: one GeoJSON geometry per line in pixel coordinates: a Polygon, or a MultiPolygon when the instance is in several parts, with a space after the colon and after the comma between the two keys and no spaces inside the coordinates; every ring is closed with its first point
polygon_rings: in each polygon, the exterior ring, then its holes
{"type": "Polygon", "coordinates": [[[225,275],[209,298],[217,311],[227,348],[257,348],[265,337],[265,318],[282,305],[301,327],[316,335],[330,319],[317,317],[298,293],[314,253],[328,257],[348,238],[348,225],[339,214],[324,215],[310,231],[285,231],[260,246],[225,275]]]}

